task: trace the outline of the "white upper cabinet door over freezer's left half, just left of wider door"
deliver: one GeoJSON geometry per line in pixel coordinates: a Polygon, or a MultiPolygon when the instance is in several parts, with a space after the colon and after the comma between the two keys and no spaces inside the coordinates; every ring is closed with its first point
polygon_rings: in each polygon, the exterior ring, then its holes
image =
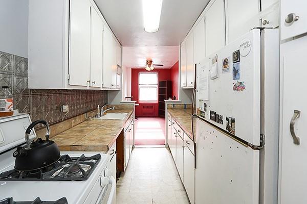
{"type": "Polygon", "coordinates": [[[225,14],[223,0],[214,1],[205,15],[205,24],[206,56],[209,56],[225,45],[225,14]]]}

